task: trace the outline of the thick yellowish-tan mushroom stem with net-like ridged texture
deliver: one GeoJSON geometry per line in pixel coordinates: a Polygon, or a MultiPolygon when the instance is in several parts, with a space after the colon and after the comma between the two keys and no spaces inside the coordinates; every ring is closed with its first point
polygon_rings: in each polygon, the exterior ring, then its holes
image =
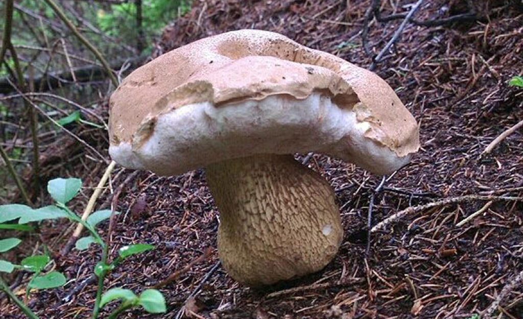
{"type": "Polygon", "coordinates": [[[334,192],[291,155],[257,155],[211,164],[209,189],[220,211],[224,268],[250,286],[321,270],[343,238],[334,192]]]}

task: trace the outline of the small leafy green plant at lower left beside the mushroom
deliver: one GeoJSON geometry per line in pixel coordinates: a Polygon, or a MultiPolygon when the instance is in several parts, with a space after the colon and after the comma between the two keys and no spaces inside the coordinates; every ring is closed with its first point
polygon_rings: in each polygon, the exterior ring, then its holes
{"type": "MultiPolygon", "coordinates": [[[[104,278],[107,273],[115,268],[118,263],[123,259],[139,254],[140,252],[153,249],[154,246],[150,244],[134,244],[129,246],[123,246],[118,249],[118,257],[112,262],[108,262],[108,245],[96,232],[96,225],[111,216],[110,210],[96,211],[91,214],[86,221],[83,221],[78,215],[66,206],[73,197],[78,193],[82,186],[82,181],[76,178],[58,178],[49,181],[47,190],[55,201],[54,205],[49,205],[37,209],[33,209],[26,205],[21,204],[9,204],[0,205],[0,229],[18,229],[18,230],[31,230],[32,227],[26,225],[29,222],[39,222],[45,219],[56,219],[56,218],[68,218],[73,222],[81,223],[89,231],[89,236],[79,238],[76,241],[75,247],[78,250],[87,249],[90,244],[97,244],[102,249],[101,260],[96,263],[94,273],[98,277],[98,289],[96,293],[95,305],[93,309],[92,318],[96,319],[100,308],[106,303],[121,299],[122,303],[115,311],[113,311],[109,318],[116,318],[123,311],[130,309],[135,306],[142,306],[143,309],[150,313],[160,313],[166,311],[165,299],[160,291],[155,289],[146,289],[140,296],[135,295],[132,291],[122,288],[111,288],[106,291],[103,295],[104,290],[104,278]],[[18,224],[12,222],[18,219],[18,224]],[[6,223],[11,222],[11,223],[6,223]]],[[[115,212],[118,214],[118,212],[115,212]]],[[[0,240],[0,252],[7,251],[16,247],[20,244],[18,238],[5,238],[0,240]]],[[[35,255],[24,258],[20,265],[15,265],[7,260],[0,259],[0,272],[12,272],[16,268],[24,269],[26,271],[33,272],[31,279],[27,285],[27,294],[31,288],[36,289],[48,289],[60,287],[65,284],[65,276],[58,271],[51,271],[45,274],[41,274],[44,268],[49,263],[50,258],[47,254],[35,255]]],[[[4,290],[13,302],[27,314],[30,318],[36,319],[34,313],[20,300],[18,300],[15,294],[10,291],[9,287],[0,278],[0,290],[4,290]]]]}

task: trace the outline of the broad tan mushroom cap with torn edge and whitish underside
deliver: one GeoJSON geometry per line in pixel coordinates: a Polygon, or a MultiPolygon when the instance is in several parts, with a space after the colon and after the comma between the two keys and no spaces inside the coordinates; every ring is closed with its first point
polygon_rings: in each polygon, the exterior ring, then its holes
{"type": "Polygon", "coordinates": [[[416,120],[378,75],[261,30],[167,52],[124,79],[109,105],[112,159],[163,175],[308,151],[386,174],[419,148],[416,120]]]}

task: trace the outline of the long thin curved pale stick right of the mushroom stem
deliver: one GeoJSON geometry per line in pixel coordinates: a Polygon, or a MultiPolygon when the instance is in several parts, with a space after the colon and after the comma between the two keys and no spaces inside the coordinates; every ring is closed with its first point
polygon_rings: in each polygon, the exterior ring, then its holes
{"type": "Polygon", "coordinates": [[[397,221],[398,219],[402,218],[405,215],[422,212],[422,211],[427,210],[428,208],[432,208],[432,207],[445,206],[445,205],[449,205],[449,204],[455,204],[455,203],[461,203],[461,202],[467,202],[467,201],[517,201],[517,202],[520,202],[520,201],[523,201],[523,197],[493,196],[493,195],[488,195],[488,196],[465,195],[465,196],[458,196],[458,197],[442,199],[440,201],[433,202],[433,203],[408,207],[403,211],[397,212],[397,213],[385,218],[383,221],[379,222],[376,226],[372,227],[370,232],[376,233],[378,230],[385,228],[387,225],[397,221]]]}

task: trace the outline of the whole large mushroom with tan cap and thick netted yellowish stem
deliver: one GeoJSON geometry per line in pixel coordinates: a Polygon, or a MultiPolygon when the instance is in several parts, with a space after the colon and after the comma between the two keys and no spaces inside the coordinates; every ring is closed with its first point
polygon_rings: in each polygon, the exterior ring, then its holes
{"type": "Polygon", "coordinates": [[[331,186],[294,153],[387,174],[419,147],[416,120],[379,76],[261,30],[204,38],[133,71],[110,97],[109,122],[109,153],[124,167],[205,169],[222,265],[253,287],[321,270],[343,238],[331,186]]]}

